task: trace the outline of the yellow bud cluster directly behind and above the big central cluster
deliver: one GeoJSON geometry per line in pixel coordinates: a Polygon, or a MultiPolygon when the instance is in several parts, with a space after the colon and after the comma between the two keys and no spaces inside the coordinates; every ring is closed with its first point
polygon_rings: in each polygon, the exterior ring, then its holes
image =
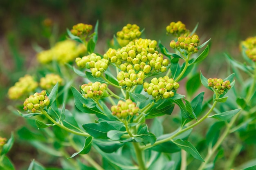
{"type": "Polygon", "coordinates": [[[117,32],[117,37],[121,40],[135,40],[139,38],[141,32],[139,31],[139,26],[136,24],[127,24],[123,27],[121,31],[117,32]]]}

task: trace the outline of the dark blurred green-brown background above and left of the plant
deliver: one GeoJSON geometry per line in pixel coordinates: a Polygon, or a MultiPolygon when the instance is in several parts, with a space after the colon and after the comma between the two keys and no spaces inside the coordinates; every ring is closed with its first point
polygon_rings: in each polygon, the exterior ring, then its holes
{"type": "MultiPolygon", "coordinates": [[[[0,0],[0,136],[9,138],[25,122],[8,109],[14,104],[7,99],[7,91],[33,66],[35,46],[50,48],[46,19],[55,26],[51,43],[65,39],[66,29],[74,24],[94,25],[99,20],[99,53],[107,50],[106,42],[127,23],[145,28],[143,38],[161,40],[165,46],[171,41],[165,30],[170,22],[180,20],[190,30],[199,23],[201,42],[211,38],[201,69],[205,75],[226,76],[223,52],[239,60],[240,41],[256,35],[255,9],[255,0],[0,0]]],[[[38,153],[17,142],[13,147],[19,152],[9,157],[17,169],[28,167],[38,153]]]]}

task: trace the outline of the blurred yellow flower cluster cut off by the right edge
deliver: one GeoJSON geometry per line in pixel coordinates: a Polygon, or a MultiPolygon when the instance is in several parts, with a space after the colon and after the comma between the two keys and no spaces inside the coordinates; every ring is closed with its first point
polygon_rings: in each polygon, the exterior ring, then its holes
{"type": "Polygon", "coordinates": [[[256,62],[256,37],[247,38],[245,41],[241,42],[241,46],[246,49],[246,55],[256,62]]]}

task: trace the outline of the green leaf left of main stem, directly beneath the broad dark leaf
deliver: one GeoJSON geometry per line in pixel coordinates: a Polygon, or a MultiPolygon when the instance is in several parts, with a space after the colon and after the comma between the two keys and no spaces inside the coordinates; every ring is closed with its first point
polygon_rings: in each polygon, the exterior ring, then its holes
{"type": "Polygon", "coordinates": [[[103,152],[112,153],[117,151],[125,143],[120,143],[119,141],[110,141],[105,139],[93,139],[94,144],[96,144],[103,152]]]}

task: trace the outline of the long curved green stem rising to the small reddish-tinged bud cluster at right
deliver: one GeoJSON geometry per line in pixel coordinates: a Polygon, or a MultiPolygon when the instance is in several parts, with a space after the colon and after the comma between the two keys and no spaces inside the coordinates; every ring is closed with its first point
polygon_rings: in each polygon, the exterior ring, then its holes
{"type": "Polygon", "coordinates": [[[179,130],[177,133],[175,133],[175,134],[172,135],[171,137],[168,137],[168,138],[165,138],[165,139],[156,141],[155,144],[153,144],[153,145],[147,144],[146,146],[143,146],[141,149],[146,150],[146,149],[151,148],[151,147],[153,147],[153,146],[156,146],[156,145],[162,144],[162,143],[164,143],[164,142],[170,141],[171,139],[175,138],[176,136],[182,134],[183,132],[185,132],[185,131],[187,131],[187,130],[193,128],[194,126],[196,126],[196,125],[198,125],[198,124],[200,124],[200,123],[201,123],[204,119],[206,119],[206,118],[208,117],[208,115],[213,111],[213,109],[215,108],[216,104],[217,104],[217,102],[215,101],[215,102],[213,103],[213,105],[211,106],[211,109],[210,109],[200,120],[198,120],[198,121],[195,122],[194,124],[192,124],[192,125],[190,125],[190,126],[184,128],[184,129],[179,130]]]}

